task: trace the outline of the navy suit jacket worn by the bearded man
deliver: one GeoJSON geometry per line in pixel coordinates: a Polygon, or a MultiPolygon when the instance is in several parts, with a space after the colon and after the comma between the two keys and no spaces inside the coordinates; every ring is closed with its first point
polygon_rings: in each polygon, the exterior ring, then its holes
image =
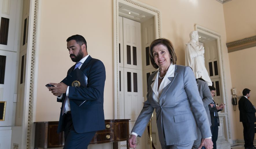
{"type": "MultiPolygon", "coordinates": [[[[67,74],[70,74],[75,65],[72,66],[67,74]]],[[[104,111],[103,111],[103,94],[106,80],[106,71],[104,64],[92,58],[90,55],[82,64],[80,70],[86,75],[87,87],[69,86],[69,103],[74,129],[77,133],[85,133],[90,131],[98,131],[105,129],[104,111]],[[86,100],[80,107],[74,103],[75,100],[86,100]]],[[[63,101],[66,94],[63,94],[62,108],[65,108],[63,101]]],[[[64,117],[60,110],[60,120],[58,125],[58,133],[64,130],[64,117]]]]}

